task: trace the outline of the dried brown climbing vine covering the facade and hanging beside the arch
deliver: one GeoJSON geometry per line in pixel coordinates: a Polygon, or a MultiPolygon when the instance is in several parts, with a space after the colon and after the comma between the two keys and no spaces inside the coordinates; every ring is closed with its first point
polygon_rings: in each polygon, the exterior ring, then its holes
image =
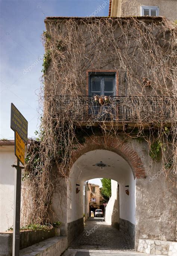
{"type": "Polygon", "coordinates": [[[165,18],[132,17],[56,18],[47,19],[46,24],[40,94],[43,118],[39,141],[31,144],[25,166],[25,222],[50,223],[52,196],[60,188],[59,181],[68,177],[73,144],[84,142],[95,129],[102,136],[146,140],[149,155],[162,162],[165,177],[174,182],[174,25],[165,18]],[[124,100],[80,97],[86,95],[86,71],[90,69],[117,70],[119,95],[126,95],[124,100]],[[128,109],[128,116],[120,115],[121,109],[128,109]],[[136,128],[127,127],[127,118],[136,128]],[[109,120],[109,129],[105,120],[109,120]],[[99,128],[92,127],[94,122],[99,128]]]}

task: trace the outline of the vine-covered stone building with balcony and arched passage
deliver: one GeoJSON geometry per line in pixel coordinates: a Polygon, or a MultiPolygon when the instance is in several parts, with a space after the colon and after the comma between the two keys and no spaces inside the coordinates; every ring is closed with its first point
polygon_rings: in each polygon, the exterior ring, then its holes
{"type": "Polygon", "coordinates": [[[165,96],[173,91],[173,75],[164,78],[165,71],[160,71],[169,65],[173,73],[171,59],[162,65],[169,47],[174,49],[173,25],[162,17],[47,17],[45,24],[50,62],[44,113],[46,124],[53,124],[48,136],[57,147],[53,129],[59,134],[63,124],[67,136],[74,134],[67,153],[68,180],[63,180],[62,196],[57,189],[53,195],[53,221],[62,222],[61,234],[71,243],[83,230],[84,182],[109,178],[119,184],[115,219],[120,229],[130,235],[136,250],[145,240],[152,245],[159,240],[162,249],[164,241],[175,241],[173,171],[168,172],[170,179],[162,171],[167,141],[164,151],[155,148],[160,155],[154,161],[148,138],[153,141],[163,131],[159,143],[173,127],[173,93],[172,98],[165,96]]]}

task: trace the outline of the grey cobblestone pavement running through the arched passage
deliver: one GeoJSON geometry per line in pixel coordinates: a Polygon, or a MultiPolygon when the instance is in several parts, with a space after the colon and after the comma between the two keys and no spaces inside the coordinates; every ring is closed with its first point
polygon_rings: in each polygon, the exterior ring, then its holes
{"type": "Polygon", "coordinates": [[[128,235],[123,234],[103,220],[103,218],[89,218],[86,221],[84,232],[71,243],[69,248],[133,250],[128,235]]]}

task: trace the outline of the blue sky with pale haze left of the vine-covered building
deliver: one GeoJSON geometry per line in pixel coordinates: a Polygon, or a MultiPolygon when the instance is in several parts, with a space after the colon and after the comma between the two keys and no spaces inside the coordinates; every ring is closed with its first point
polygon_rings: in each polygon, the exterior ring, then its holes
{"type": "Polygon", "coordinates": [[[10,129],[12,102],[28,120],[28,137],[38,129],[38,93],[44,54],[41,34],[47,16],[108,16],[108,0],[0,1],[0,138],[10,129]],[[103,5],[104,4],[104,5],[103,5]],[[37,64],[36,64],[37,63],[37,64]],[[36,65],[35,65],[36,64],[36,65]],[[31,71],[27,72],[31,69],[31,71]]]}

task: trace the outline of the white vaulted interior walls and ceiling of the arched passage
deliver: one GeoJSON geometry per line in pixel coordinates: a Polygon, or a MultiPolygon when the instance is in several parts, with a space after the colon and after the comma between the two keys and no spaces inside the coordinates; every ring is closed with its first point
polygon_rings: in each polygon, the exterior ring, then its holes
{"type": "MultiPolygon", "coordinates": [[[[121,232],[128,235],[131,241],[134,241],[136,223],[136,177],[134,177],[133,174],[127,161],[115,152],[96,149],[81,155],[74,162],[68,179],[67,223],[75,223],[75,221],[83,219],[83,185],[86,180],[99,177],[112,179],[115,180],[115,186],[116,184],[119,185],[119,196],[118,198],[113,198],[112,201],[110,199],[111,203],[109,202],[108,211],[112,223],[110,222],[109,224],[114,225],[116,222],[121,232]],[[125,192],[127,186],[129,195],[125,192]],[[76,188],[80,190],[78,193],[76,193],[76,188]],[[116,202],[117,200],[118,203],[116,202]],[[114,211],[115,208],[116,211],[114,211]]],[[[105,229],[105,227],[106,226],[104,226],[103,229],[105,229]]],[[[70,228],[70,231],[71,230],[72,227],[70,228]]],[[[109,230],[108,228],[108,232],[109,230]]],[[[115,243],[117,240],[117,246],[119,246],[118,234],[117,236],[114,235],[114,240],[115,243]]]]}

